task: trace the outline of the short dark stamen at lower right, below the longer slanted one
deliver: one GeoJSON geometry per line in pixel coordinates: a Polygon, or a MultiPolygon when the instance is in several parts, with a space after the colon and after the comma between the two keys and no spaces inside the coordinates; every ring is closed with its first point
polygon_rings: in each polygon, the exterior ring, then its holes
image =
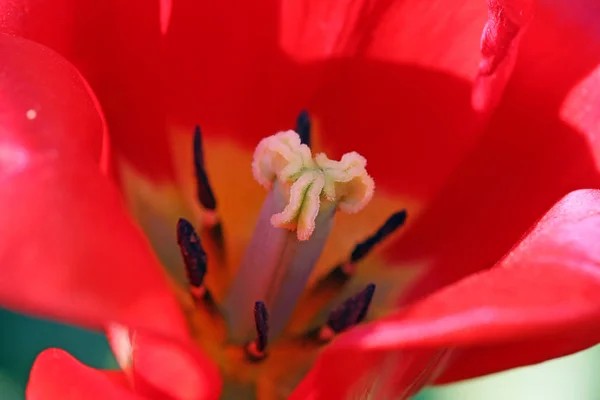
{"type": "Polygon", "coordinates": [[[319,339],[329,341],[340,332],[361,323],[367,316],[374,293],[375,285],[371,283],[334,309],[327,323],[319,330],[319,339]]]}

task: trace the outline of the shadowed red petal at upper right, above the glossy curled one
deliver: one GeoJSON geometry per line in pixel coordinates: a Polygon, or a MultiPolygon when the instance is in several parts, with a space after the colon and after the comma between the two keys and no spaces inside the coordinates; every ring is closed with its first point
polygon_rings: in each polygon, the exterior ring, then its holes
{"type": "MultiPolygon", "coordinates": [[[[518,1],[517,1],[518,2],[518,1]]],[[[600,10],[540,2],[479,145],[390,257],[428,260],[413,300],[493,265],[570,191],[600,187],[600,10]]]]}

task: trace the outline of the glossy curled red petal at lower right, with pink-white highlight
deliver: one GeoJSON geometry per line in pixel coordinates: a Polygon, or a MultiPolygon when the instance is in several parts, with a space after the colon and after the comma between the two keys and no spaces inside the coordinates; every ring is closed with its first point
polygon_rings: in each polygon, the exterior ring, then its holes
{"type": "Polygon", "coordinates": [[[373,376],[382,381],[375,387],[397,395],[428,379],[469,378],[595,345],[598,232],[600,190],[571,193],[496,267],[342,335],[299,386],[298,396],[343,399],[357,382],[376,382],[369,380],[373,376]],[[448,358],[440,359],[445,353],[448,358]],[[408,375],[385,374],[386,360],[396,354],[393,365],[403,365],[408,375]],[[348,368],[351,360],[354,367],[348,368]]]}

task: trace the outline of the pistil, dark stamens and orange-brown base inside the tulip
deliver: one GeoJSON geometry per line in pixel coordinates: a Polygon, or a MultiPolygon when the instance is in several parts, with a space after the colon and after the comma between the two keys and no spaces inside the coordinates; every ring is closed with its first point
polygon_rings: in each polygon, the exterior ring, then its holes
{"type": "Polygon", "coordinates": [[[177,223],[189,286],[180,297],[198,343],[223,372],[224,398],[285,398],[327,343],[367,320],[375,283],[340,296],[357,263],[406,220],[405,210],[393,213],[309,284],[336,215],[361,211],[375,189],[360,154],[335,161],[313,155],[310,142],[311,121],[303,111],[295,131],[276,133],[256,147],[251,168],[267,195],[234,268],[228,265],[226,230],[196,127],[194,167],[203,217],[198,231],[184,218],[177,223]],[[205,248],[211,249],[210,259],[205,248]]]}

